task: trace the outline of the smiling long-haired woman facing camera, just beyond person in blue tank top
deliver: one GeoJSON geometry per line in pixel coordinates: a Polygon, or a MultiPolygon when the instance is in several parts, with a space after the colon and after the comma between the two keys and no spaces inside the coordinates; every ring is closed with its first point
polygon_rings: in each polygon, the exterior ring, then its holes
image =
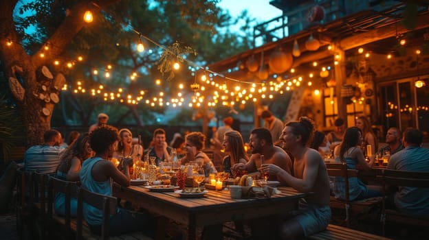
{"type": "Polygon", "coordinates": [[[117,158],[133,158],[133,163],[141,160],[143,156],[143,147],[140,144],[133,145],[133,134],[129,129],[119,130],[120,142],[118,150],[113,154],[117,158]]]}

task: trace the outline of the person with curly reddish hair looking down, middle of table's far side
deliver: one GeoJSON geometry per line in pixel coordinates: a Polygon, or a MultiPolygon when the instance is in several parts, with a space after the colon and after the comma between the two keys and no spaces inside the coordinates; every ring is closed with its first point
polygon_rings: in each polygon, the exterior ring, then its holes
{"type": "Polygon", "coordinates": [[[203,152],[206,135],[201,132],[190,132],[185,136],[185,152],[186,156],[181,159],[181,165],[186,163],[199,163],[203,166],[206,177],[210,173],[217,173],[212,160],[203,152]]]}

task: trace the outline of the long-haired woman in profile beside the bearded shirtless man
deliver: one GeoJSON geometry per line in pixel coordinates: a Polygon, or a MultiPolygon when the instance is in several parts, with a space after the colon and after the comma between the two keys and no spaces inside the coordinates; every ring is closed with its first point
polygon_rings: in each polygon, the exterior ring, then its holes
{"type": "Polygon", "coordinates": [[[249,161],[248,154],[245,153],[243,137],[234,130],[225,132],[222,146],[225,152],[228,152],[228,156],[223,158],[223,171],[230,173],[230,178],[232,178],[231,167],[236,163],[245,164],[249,161]]]}

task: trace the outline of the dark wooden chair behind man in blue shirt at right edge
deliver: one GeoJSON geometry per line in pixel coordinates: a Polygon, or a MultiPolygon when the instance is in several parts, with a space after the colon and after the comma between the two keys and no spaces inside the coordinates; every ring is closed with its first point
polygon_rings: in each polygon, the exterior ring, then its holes
{"type": "Polygon", "coordinates": [[[377,176],[377,178],[383,183],[384,197],[381,217],[383,235],[385,235],[386,231],[386,222],[429,227],[429,217],[415,217],[392,209],[386,209],[386,187],[388,185],[429,188],[429,172],[384,169],[382,175],[377,176]]]}

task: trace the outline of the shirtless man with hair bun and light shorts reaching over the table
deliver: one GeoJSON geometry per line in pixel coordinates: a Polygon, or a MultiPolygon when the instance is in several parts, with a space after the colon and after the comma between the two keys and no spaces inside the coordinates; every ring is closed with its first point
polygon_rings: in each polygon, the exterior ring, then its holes
{"type": "Polygon", "coordinates": [[[326,229],[331,219],[326,165],[316,150],[307,147],[313,131],[314,124],[307,117],[300,117],[299,121],[290,121],[283,129],[281,135],[283,148],[291,152],[295,158],[294,176],[273,164],[261,166],[262,171],[277,176],[297,191],[311,193],[300,201],[296,215],[280,221],[278,234],[281,239],[302,239],[320,232],[326,229]]]}

